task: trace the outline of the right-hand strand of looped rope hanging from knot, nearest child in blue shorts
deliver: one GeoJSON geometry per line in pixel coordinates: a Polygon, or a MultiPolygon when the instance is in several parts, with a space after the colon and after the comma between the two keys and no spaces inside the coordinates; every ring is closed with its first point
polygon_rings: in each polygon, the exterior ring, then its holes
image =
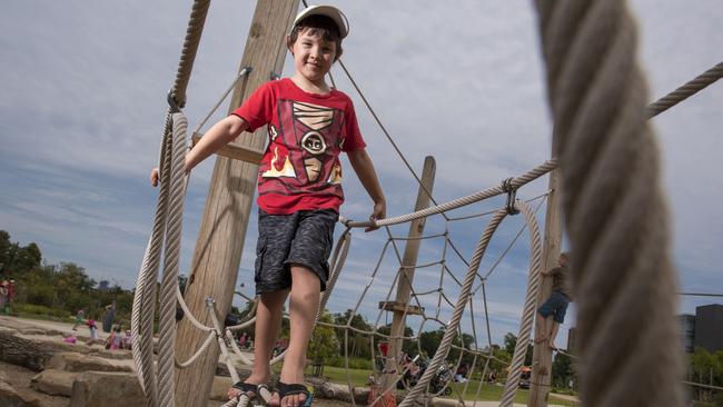
{"type": "MultiPolygon", "coordinates": [[[[519,332],[517,334],[517,344],[512,357],[509,376],[505,383],[505,393],[502,396],[501,407],[511,407],[515,401],[515,393],[522,375],[522,366],[525,363],[527,354],[527,344],[529,343],[529,332],[535,318],[537,294],[539,292],[539,271],[542,270],[542,239],[539,238],[539,227],[535,212],[523,201],[516,201],[515,207],[524,215],[529,230],[529,272],[527,277],[527,294],[525,295],[525,307],[523,310],[522,321],[519,322],[519,332]]],[[[484,377],[484,376],[483,376],[484,377]]]]}

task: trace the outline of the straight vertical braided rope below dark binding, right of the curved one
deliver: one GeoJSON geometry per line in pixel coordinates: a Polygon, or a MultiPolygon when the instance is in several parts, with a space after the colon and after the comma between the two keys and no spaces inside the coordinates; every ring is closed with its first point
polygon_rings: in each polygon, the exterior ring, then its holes
{"type": "Polygon", "coordinates": [[[160,288],[158,393],[161,407],[175,403],[175,343],[176,343],[176,290],[178,287],[178,259],[180,255],[181,220],[184,211],[186,158],[186,130],[188,122],[182,113],[172,115],[172,157],[169,192],[169,214],[166,226],[164,277],[160,288]]]}

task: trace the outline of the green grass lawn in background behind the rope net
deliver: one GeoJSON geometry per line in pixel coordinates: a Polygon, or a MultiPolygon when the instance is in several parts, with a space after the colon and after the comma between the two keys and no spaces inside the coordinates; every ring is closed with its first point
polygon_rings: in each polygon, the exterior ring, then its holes
{"type": "MultiPolygon", "coordinates": [[[[311,369],[306,369],[305,374],[307,376],[311,376],[311,369]]],[[[372,375],[372,370],[349,369],[349,376],[354,386],[366,386],[369,375],[372,375]]],[[[347,370],[343,367],[325,366],[324,376],[331,383],[341,385],[347,384],[347,370]]],[[[453,383],[450,397],[457,398],[458,395],[462,395],[464,386],[465,384],[462,383],[453,383]]],[[[477,396],[478,386],[478,380],[471,380],[469,385],[467,386],[467,393],[462,395],[462,397],[465,400],[477,399],[479,401],[496,401],[502,399],[502,394],[505,390],[504,386],[484,384],[479,389],[479,395],[477,396]]],[[[528,397],[528,390],[518,389],[515,396],[515,403],[526,404],[528,397]]],[[[554,395],[549,396],[549,403],[561,406],[576,406],[575,403],[556,398],[554,395]]]]}

